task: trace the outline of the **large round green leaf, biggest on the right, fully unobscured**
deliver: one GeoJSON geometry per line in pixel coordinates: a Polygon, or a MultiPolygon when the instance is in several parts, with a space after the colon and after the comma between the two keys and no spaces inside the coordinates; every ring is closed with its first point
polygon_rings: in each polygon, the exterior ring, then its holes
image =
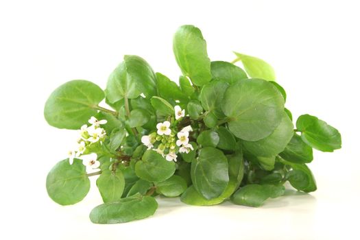
{"type": "Polygon", "coordinates": [[[239,80],[226,90],[222,110],[230,118],[232,134],[245,141],[259,141],[280,124],[284,99],[276,86],[265,80],[239,80]]]}

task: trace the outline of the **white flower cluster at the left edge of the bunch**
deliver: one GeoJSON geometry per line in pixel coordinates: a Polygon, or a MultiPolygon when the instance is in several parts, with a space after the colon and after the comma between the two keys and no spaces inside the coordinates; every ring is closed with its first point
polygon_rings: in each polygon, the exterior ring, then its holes
{"type": "Polygon", "coordinates": [[[82,125],[80,129],[80,138],[77,140],[77,147],[75,150],[69,151],[69,163],[73,164],[74,158],[82,159],[82,163],[86,166],[87,171],[91,169],[97,169],[100,166],[99,161],[97,160],[97,154],[84,154],[86,149],[95,143],[102,143],[106,136],[106,131],[104,128],[100,128],[100,125],[106,124],[106,120],[97,120],[95,117],[91,117],[88,120],[88,123],[91,125],[82,125]]]}

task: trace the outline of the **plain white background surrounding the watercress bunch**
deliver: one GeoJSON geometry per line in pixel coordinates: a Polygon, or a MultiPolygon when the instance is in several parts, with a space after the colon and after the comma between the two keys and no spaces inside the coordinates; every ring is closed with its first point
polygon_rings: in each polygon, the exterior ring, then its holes
{"type": "MultiPolygon", "coordinates": [[[[360,14],[357,1],[1,1],[1,239],[359,239],[360,14]],[[270,200],[194,207],[160,199],[153,217],[91,224],[101,203],[95,185],[80,204],[62,207],[45,190],[47,172],[66,158],[75,132],[51,128],[44,103],[73,79],[104,88],[124,54],[180,75],[172,36],[202,29],[212,60],[232,51],[276,69],[294,117],[309,113],[342,134],[343,148],[314,152],[318,190],[270,200]]],[[[93,182],[94,183],[94,182],[93,182]]]]}

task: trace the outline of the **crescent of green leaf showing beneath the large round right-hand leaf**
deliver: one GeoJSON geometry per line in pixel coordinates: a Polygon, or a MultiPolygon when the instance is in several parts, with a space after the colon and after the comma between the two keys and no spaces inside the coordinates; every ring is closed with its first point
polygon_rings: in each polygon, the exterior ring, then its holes
{"type": "Polygon", "coordinates": [[[283,119],[272,134],[259,141],[243,141],[243,146],[255,156],[276,156],[283,152],[292,136],[293,123],[291,123],[291,120],[284,112],[283,119]]]}

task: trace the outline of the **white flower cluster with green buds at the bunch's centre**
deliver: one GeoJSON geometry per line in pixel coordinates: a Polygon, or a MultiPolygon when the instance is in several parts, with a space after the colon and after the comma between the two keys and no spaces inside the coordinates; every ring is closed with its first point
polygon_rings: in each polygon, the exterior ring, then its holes
{"type": "MultiPolygon", "coordinates": [[[[181,109],[180,106],[175,106],[174,110],[176,120],[185,116],[185,110],[181,109]]],[[[176,132],[171,130],[170,126],[171,123],[169,121],[158,123],[156,125],[157,131],[143,136],[141,142],[147,146],[147,149],[153,149],[165,157],[166,160],[176,161],[178,158],[176,155],[176,146],[179,147],[178,150],[180,153],[189,153],[193,150],[193,145],[189,143],[189,132],[193,131],[193,128],[191,128],[191,125],[188,125],[176,134],[176,132]],[[175,136],[178,136],[177,140],[175,136]],[[158,143],[158,145],[154,148],[156,143],[158,143]]]]}

